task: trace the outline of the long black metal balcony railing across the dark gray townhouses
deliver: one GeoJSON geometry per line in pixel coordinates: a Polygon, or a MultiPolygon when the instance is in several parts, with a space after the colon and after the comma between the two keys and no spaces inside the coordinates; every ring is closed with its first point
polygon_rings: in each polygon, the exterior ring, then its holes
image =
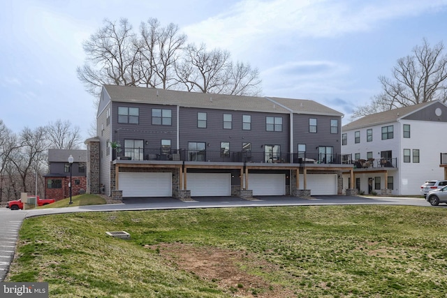
{"type": "Polygon", "coordinates": [[[300,163],[341,164],[339,154],[307,154],[264,151],[210,151],[188,149],[113,149],[113,160],[131,161],[203,161],[227,163],[300,163]]]}

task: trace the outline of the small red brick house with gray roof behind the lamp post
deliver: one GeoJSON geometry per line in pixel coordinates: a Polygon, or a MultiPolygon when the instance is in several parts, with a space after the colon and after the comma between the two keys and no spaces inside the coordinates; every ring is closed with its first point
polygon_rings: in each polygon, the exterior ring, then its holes
{"type": "Polygon", "coordinates": [[[45,174],[45,198],[62,200],[70,196],[70,170],[72,196],[87,189],[87,150],[48,149],[50,172],[45,174]],[[73,156],[70,169],[68,157],[73,156]]]}

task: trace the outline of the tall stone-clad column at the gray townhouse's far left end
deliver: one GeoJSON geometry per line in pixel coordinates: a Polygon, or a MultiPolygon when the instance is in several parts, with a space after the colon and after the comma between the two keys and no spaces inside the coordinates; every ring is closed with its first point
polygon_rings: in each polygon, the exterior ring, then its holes
{"type": "Polygon", "coordinates": [[[87,144],[87,193],[99,193],[99,138],[85,141],[87,144]]]}

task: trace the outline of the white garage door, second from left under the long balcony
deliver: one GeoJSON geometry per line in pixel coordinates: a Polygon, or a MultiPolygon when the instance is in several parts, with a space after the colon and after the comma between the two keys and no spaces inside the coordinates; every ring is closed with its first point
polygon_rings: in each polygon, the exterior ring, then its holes
{"type": "Polygon", "coordinates": [[[191,197],[230,196],[230,173],[187,173],[186,188],[191,197]]]}

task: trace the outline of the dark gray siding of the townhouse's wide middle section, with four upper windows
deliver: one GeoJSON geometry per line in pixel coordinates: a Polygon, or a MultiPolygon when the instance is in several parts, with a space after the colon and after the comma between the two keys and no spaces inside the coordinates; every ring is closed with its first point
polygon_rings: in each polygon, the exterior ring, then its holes
{"type": "Polygon", "coordinates": [[[288,114],[244,112],[233,110],[211,110],[180,107],[180,148],[188,149],[189,142],[209,144],[207,151],[220,151],[221,142],[230,142],[230,151],[242,151],[242,143],[250,142],[251,151],[263,152],[261,145],[281,145],[281,152],[289,151],[288,114]],[[197,127],[197,113],[207,113],[207,128],[197,127]],[[232,128],[223,128],[223,114],[232,114],[232,128]],[[251,116],[251,130],[242,130],[242,115],[251,116]],[[282,131],[266,131],[265,117],[282,117],[282,131]]]}

